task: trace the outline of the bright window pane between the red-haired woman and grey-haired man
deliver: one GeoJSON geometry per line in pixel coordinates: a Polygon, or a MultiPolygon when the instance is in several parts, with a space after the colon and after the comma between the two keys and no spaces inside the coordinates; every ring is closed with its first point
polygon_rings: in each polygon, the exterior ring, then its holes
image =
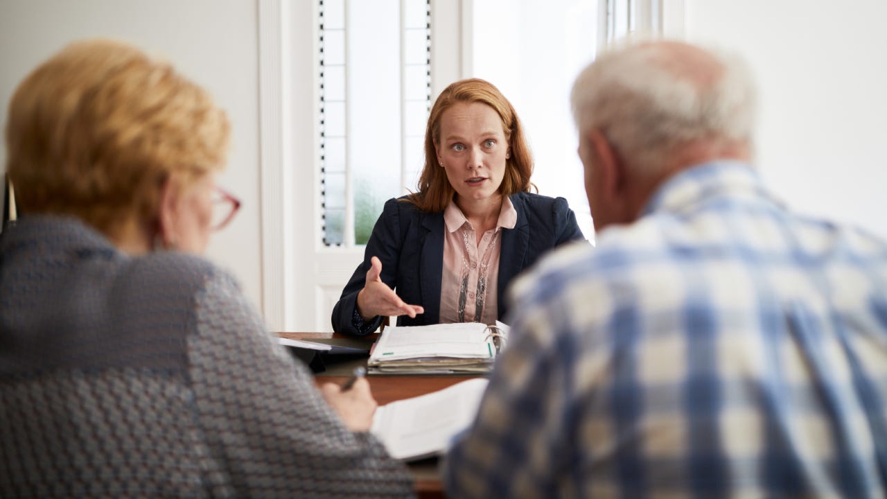
{"type": "Polygon", "coordinates": [[[589,240],[594,228],[569,93],[608,43],[656,32],[658,0],[475,0],[469,75],[495,84],[530,139],[539,194],[567,198],[589,240]]]}

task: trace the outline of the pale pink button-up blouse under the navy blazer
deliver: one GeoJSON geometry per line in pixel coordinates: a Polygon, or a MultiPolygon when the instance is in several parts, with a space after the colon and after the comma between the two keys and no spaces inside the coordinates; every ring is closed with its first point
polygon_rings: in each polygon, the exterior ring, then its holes
{"type": "Polygon", "coordinates": [[[501,229],[514,228],[517,210],[506,197],[496,228],[484,233],[480,244],[474,227],[455,202],[443,210],[443,224],[440,322],[495,323],[501,229]]]}

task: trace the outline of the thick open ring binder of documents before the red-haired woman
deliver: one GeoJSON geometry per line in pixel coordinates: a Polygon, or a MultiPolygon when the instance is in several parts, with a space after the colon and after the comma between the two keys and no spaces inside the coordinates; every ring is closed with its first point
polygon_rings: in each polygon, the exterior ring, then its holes
{"type": "Polygon", "coordinates": [[[491,370],[507,326],[480,322],[389,327],[373,345],[370,374],[470,374],[491,370]]]}

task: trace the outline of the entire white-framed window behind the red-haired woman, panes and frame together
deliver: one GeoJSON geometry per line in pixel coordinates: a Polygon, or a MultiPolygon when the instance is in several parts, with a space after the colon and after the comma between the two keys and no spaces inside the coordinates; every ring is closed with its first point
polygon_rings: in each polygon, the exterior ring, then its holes
{"type": "Polygon", "coordinates": [[[615,9],[662,2],[679,0],[259,2],[271,328],[328,330],[383,202],[415,188],[430,99],[459,78],[489,79],[514,103],[540,192],[567,197],[592,237],[569,85],[615,9]]]}

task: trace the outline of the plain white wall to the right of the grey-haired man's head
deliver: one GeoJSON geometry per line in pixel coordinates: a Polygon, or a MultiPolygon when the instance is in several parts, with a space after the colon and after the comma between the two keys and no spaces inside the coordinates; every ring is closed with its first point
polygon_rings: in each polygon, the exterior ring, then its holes
{"type": "Polygon", "coordinates": [[[758,165],[794,210],[887,237],[887,2],[685,0],[687,39],[740,53],[758,165]]]}

